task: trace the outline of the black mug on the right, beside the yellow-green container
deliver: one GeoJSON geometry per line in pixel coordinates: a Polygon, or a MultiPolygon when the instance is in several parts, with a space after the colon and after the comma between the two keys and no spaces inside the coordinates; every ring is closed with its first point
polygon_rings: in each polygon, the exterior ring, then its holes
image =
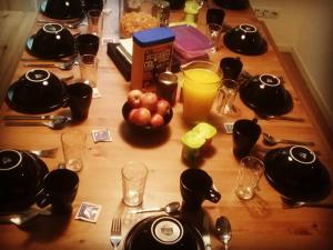
{"type": "Polygon", "coordinates": [[[252,148],[261,134],[261,128],[256,120],[238,120],[233,124],[233,154],[241,159],[250,154],[252,148]]]}

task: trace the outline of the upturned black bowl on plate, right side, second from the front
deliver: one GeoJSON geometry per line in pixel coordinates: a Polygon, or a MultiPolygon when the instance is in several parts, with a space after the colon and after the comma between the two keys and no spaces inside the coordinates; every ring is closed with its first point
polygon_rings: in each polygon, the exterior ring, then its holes
{"type": "Polygon", "coordinates": [[[293,108],[293,100],[280,78],[260,74],[240,87],[241,100],[252,110],[263,116],[281,116],[293,108]]]}

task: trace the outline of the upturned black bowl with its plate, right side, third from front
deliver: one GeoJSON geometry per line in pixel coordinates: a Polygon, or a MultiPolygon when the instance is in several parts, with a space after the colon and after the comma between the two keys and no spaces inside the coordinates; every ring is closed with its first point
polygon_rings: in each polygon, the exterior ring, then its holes
{"type": "Polygon", "coordinates": [[[268,43],[258,29],[248,23],[229,30],[223,37],[224,44],[241,54],[258,56],[266,52],[268,43]]]}

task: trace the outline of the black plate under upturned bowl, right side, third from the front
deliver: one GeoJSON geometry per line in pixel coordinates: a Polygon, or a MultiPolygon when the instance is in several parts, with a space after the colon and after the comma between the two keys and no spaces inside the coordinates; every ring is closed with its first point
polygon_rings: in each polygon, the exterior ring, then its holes
{"type": "Polygon", "coordinates": [[[268,51],[268,42],[262,38],[262,44],[255,48],[241,47],[236,41],[239,38],[233,34],[233,30],[228,31],[223,37],[223,42],[228,49],[233,52],[245,54],[245,56],[260,56],[268,51]]]}

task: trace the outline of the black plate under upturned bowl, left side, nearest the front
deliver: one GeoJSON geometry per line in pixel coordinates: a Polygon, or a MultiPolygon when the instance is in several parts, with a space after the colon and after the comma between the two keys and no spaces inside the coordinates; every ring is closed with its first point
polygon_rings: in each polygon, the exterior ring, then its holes
{"type": "MultiPolygon", "coordinates": [[[[21,151],[22,152],[22,151],[21,151]]],[[[0,200],[0,212],[16,212],[16,211],[22,211],[27,208],[29,208],[31,204],[36,202],[36,194],[41,189],[42,180],[43,178],[49,173],[48,166],[44,161],[42,161],[40,158],[38,158],[33,153],[22,152],[26,154],[27,159],[34,166],[34,170],[38,177],[38,183],[34,190],[34,193],[26,196],[24,198],[7,201],[6,203],[2,203],[0,200]]]]}

